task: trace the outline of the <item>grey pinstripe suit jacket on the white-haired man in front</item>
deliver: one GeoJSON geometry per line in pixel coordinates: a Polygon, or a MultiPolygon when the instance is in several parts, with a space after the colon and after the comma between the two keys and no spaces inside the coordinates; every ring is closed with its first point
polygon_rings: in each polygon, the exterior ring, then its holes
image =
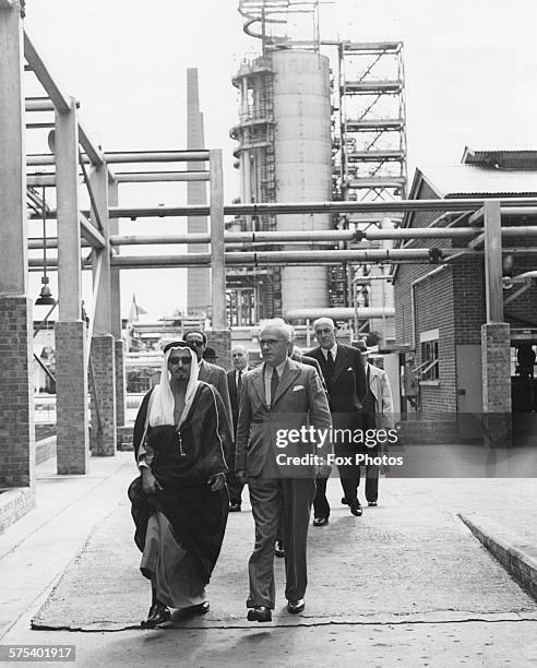
{"type": "Polygon", "coordinates": [[[265,464],[276,475],[303,477],[314,474],[312,465],[279,465],[268,457],[278,454],[300,456],[331,452],[331,439],[326,437],[323,448],[315,442],[299,440],[282,446],[279,430],[300,429],[313,426],[329,430],[332,426],[329,402],[313,367],[287,359],[279,379],[276,396],[268,408],[264,389],[265,365],[260,365],[243,378],[239,407],[239,426],[236,440],[236,470],[246,470],[249,476],[259,476],[265,464]],[[279,445],[278,445],[279,443],[279,445]]]}

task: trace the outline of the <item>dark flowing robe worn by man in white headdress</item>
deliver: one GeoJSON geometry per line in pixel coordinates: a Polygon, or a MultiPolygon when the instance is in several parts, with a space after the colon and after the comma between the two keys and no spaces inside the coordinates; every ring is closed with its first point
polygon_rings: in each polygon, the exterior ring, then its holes
{"type": "MultiPolygon", "coordinates": [[[[150,395],[151,392],[145,395],[134,424],[136,462],[150,395]]],[[[231,446],[231,436],[222,398],[205,383],[200,383],[196,390],[180,437],[179,443],[176,427],[171,425],[147,429],[146,462],[163,490],[145,494],[142,476],[129,487],[136,527],[134,541],[143,551],[147,521],[156,510],[162,511],[176,540],[195,558],[200,577],[206,584],[220,551],[229,505],[227,488],[213,492],[207,480],[214,474],[227,473],[225,453],[231,446]]]]}

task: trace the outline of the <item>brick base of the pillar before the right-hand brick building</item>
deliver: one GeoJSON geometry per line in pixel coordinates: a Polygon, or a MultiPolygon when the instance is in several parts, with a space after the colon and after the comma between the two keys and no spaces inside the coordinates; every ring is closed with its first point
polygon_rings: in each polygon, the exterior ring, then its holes
{"type": "Polygon", "coordinates": [[[481,325],[482,411],[488,448],[511,441],[510,326],[504,322],[481,325]]]}

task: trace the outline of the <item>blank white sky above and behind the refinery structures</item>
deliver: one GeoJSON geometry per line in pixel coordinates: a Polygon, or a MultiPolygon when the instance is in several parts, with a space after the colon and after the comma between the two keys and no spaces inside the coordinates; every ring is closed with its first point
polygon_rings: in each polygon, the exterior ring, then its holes
{"type": "MultiPolygon", "coordinates": [[[[80,100],[84,123],[105,151],[184,148],[186,70],[199,68],[206,146],[224,151],[229,203],[238,194],[229,139],[237,93],[230,80],[244,55],[259,50],[259,41],[242,33],[237,5],[238,0],[26,0],[25,25],[55,77],[80,100]]],[[[416,167],[457,164],[465,145],[537,146],[536,24],[535,0],[334,0],[321,12],[325,39],[405,41],[410,180],[416,167]]],[[[36,142],[33,131],[28,152],[45,148],[36,142]]],[[[121,204],[160,202],[186,203],[184,186],[120,187],[121,204]]],[[[184,226],[182,219],[147,219],[126,223],[120,231],[184,226]]],[[[32,236],[37,234],[33,227],[32,236]]],[[[39,277],[33,274],[32,282],[37,293],[39,277]]],[[[133,293],[152,315],[171,313],[186,306],[186,271],[122,272],[123,315],[133,293]]]]}

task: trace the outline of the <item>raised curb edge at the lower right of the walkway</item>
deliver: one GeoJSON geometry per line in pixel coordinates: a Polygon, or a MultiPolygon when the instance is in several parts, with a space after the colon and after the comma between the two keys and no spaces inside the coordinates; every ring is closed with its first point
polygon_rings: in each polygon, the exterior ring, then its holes
{"type": "Polygon", "coordinates": [[[478,513],[457,513],[476,538],[537,601],[537,546],[478,513]]]}

